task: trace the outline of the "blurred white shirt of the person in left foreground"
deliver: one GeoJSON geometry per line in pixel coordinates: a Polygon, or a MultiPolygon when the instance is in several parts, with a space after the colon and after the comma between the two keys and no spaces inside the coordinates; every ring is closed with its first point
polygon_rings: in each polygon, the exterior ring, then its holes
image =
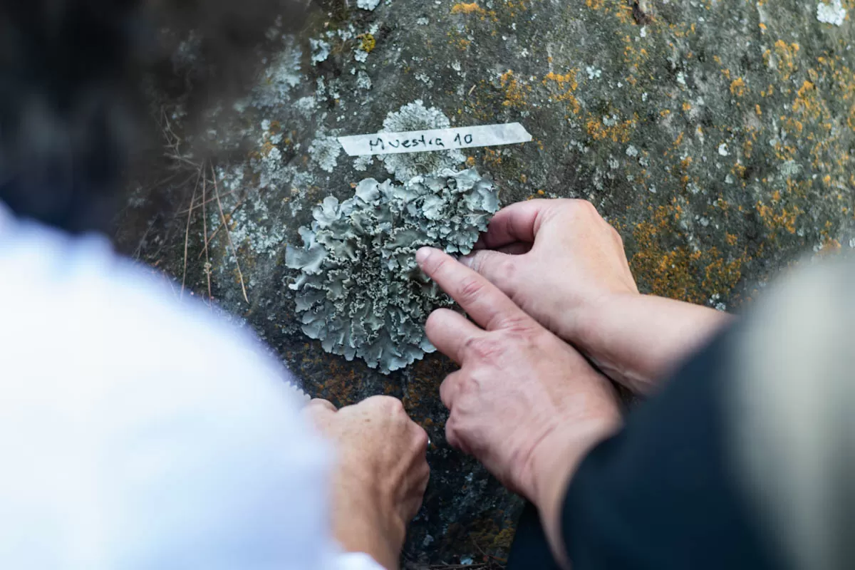
{"type": "Polygon", "coordinates": [[[380,568],[330,538],[287,379],[103,238],[0,203],[0,568],[380,568]]]}

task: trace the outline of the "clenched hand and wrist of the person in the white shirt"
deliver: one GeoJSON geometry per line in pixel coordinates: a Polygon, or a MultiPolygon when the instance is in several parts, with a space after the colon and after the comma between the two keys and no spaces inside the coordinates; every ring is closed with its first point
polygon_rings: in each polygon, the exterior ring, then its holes
{"type": "Polygon", "coordinates": [[[348,552],[398,568],[406,526],[422,507],[428,434],[397,398],[374,396],[336,409],[312,400],[304,414],[333,442],[333,536],[348,552]]]}

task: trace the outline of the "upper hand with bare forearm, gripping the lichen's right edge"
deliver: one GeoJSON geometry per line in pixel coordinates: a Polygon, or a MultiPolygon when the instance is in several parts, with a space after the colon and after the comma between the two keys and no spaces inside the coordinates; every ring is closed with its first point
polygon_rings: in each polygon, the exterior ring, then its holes
{"type": "Polygon", "coordinates": [[[620,235],[583,200],[531,200],[496,214],[463,263],[581,350],[648,392],[731,317],[641,295],[620,235]]]}

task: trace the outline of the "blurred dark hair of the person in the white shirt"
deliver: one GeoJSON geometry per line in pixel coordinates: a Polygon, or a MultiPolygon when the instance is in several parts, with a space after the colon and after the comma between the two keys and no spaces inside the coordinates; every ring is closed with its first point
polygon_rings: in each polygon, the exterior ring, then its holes
{"type": "Polygon", "coordinates": [[[164,79],[163,70],[172,69],[164,62],[175,44],[162,39],[177,42],[195,30],[203,73],[193,89],[217,85],[237,95],[255,69],[253,48],[264,31],[277,15],[293,16],[296,4],[3,0],[0,201],[68,232],[109,231],[121,173],[146,117],[142,73],[158,69],[156,79],[164,79]]]}

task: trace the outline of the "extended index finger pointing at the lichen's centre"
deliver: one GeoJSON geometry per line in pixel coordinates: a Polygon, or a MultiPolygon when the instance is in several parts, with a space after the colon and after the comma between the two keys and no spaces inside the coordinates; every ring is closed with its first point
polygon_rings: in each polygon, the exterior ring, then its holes
{"type": "Polygon", "coordinates": [[[487,331],[502,328],[509,320],[518,322],[528,318],[498,287],[445,252],[422,248],[416,252],[416,261],[428,277],[487,331]]]}

